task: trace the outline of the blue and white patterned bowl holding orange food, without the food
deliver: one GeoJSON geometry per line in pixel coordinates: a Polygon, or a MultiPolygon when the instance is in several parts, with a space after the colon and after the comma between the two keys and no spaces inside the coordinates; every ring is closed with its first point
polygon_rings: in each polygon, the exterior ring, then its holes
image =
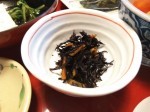
{"type": "Polygon", "coordinates": [[[142,49],[142,64],[150,66],[150,16],[131,4],[132,0],[121,0],[119,17],[128,23],[139,35],[142,49]]]}

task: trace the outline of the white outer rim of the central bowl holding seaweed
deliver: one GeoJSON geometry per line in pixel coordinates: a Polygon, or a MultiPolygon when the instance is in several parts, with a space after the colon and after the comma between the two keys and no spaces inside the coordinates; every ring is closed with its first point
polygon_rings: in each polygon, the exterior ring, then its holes
{"type": "MultiPolygon", "coordinates": [[[[34,32],[35,33],[35,32],[34,32]]],[[[141,60],[142,60],[142,47],[141,47],[141,43],[140,40],[137,36],[137,34],[134,32],[134,30],[129,27],[124,21],[122,21],[119,18],[116,17],[112,17],[109,14],[106,14],[105,12],[101,12],[101,11],[96,11],[96,10],[92,10],[92,9],[66,9],[66,10],[61,10],[61,11],[57,11],[54,12],[50,15],[47,15],[43,18],[41,18],[38,22],[36,22],[25,34],[22,44],[21,44],[21,56],[22,56],[22,60],[25,64],[25,66],[27,67],[27,69],[29,69],[29,71],[31,72],[32,75],[34,75],[35,77],[37,77],[40,81],[46,83],[47,85],[49,85],[50,87],[62,92],[63,93],[67,93],[67,94],[72,94],[71,96],[82,96],[82,97],[92,97],[92,96],[102,96],[102,95],[106,95],[106,94],[110,94],[113,92],[116,92],[120,89],[122,89],[123,87],[125,87],[128,83],[130,83],[133,78],[136,76],[140,65],[141,65],[141,60]],[[41,24],[45,23],[45,21],[49,18],[53,18],[53,17],[57,17],[58,15],[62,15],[64,13],[73,13],[73,12],[78,12],[80,14],[85,13],[85,14],[91,14],[91,15],[100,15],[106,19],[109,19],[119,25],[121,25],[122,28],[124,28],[125,30],[127,30],[127,33],[131,33],[130,35],[132,35],[133,39],[134,39],[134,45],[136,46],[134,53],[136,55],[134,55],[134,59],[133,63],[131,63],[131,67],[129,68],[129,70],[127,71],[128,75],[124,75],[124,78],[121,81],[117,82],[117,86],[116,84],[114,84],[113,86],[111,86],[111,88],[107,88],[108,90],[106,90],[105,92],[102,93],[93,93],[92,89],[89,88],[74,88],[74,91],[70,91],[70,90],[66,90],[65,88],[60,88],[58,85],[51,85],[50,81],[48,82],[48,78],[44,78],[44,77],[40,77],[37,76],[36,74],[39,73],[37,72],[36,68],[32,65],[32,63],[30,62],[30,58],[29,58],[29,51],[28,51],[28,42],[31,41],[31,33],[33,33],[33,30],[37,30],[41,24]],[[133,65],[136,65],[136,69],[133,65]],[[84,90],[83,90],[84,89],[84,90]],[[80,91],[81,90],[81,91],[80,91]],[[82,91],[83,90],[83,91],[82,91]],[[86,93],[86,94],[85,94],[86,93]]]]}

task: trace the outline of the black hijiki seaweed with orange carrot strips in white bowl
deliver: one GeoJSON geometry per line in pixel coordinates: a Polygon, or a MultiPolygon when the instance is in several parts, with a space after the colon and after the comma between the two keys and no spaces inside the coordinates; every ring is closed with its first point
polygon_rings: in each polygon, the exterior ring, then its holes
{"type": "Polygon", "coordinates": [[[73,34],[69,40],[60,43],[56,51],[60,60],[56,62],[55,68],[51,71],[61,69],[60,80],[78,87],[94,88],[101,76],[113,65],[113,61],[106,62],[104,53],[98,49],[104,44],[96,39],[95,34],[87,34],[81,31],[80,34],[73,34]]]}

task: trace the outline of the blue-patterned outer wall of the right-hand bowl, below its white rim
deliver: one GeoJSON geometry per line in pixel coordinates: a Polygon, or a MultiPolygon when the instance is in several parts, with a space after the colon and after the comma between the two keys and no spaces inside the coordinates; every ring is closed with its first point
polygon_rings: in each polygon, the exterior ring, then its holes
{"type": "Polygon", "coordinates": [[[123,3],[119,7],[119,17],[129,24],[139,35],[144,57],[142,63],[150,66],[150,22],[138,17],[123,3]]]}

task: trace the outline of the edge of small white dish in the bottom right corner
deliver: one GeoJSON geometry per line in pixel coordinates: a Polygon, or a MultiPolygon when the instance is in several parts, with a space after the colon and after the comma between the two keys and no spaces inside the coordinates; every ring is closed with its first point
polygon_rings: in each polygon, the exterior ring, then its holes
{"type": "Polygon", "coordinates": [[[149,112],[150,111],[150,96],[143,99],[133,110],[133,112],[149,112]]]}

